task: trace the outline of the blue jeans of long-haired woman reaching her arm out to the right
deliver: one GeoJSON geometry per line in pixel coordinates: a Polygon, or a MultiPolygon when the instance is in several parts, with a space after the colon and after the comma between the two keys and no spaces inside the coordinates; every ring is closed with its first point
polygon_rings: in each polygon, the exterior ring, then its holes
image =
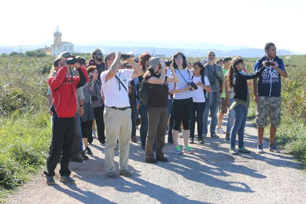
{"type": "Polygon", "coordinates": [[[243,105],[237,105],[235,108],[235,123],[230,133],[230,148],[235,148],[236,134],[238,132],[238,148],[243,148],[244,128],[247,121],[248,109],[243,105]]]}

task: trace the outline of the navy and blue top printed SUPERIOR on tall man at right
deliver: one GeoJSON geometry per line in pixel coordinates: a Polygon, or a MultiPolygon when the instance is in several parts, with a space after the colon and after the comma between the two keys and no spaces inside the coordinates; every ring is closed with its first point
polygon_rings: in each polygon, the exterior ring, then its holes
{"type": "MultiPolygon", "coordinates": [[[[262,62],[267,59],[266,56],[261,57],[255,62],[254,72],[262,68],[262,62]]],[[[278,56],[273,58],[273,61],[276,65],[285,70],[284,63],[282,59],[278,56]]],[[[267,67],[263,71],[263,73],[258,77],[257,81],[257,93],[258,96],[271,96],[271,97],[279,97],[281,90],[281,77],[280,73],[274,67],[267,67]]]]}

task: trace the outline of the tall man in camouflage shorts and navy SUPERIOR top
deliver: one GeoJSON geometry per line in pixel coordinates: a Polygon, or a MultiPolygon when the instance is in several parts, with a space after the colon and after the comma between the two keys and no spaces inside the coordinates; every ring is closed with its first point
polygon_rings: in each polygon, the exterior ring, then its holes
{"type": "Polygon", "coordinates": [[[270,152],[279,153],[275,147],[275,134],[277,127],[280,126],[280,91],[281,77],[288,77],[284,63],[276,55],[276,47],[273,43],[265,45],[266,54],[258,59],[254,65],[254,72],[266,66],[260,77],[253,79],[255,102],[257,103],[256,125],[258,130],[257,152],[263,153],[262,140],[264,128],[267,126],[267,119],[270,119],[270,152]],[[266,64],[267,61],[273,61],[266,64]]]}

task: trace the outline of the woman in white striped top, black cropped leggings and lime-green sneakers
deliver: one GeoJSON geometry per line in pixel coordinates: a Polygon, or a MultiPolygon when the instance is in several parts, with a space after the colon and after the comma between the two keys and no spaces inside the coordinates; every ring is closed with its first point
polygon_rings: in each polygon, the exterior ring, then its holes
{"type": "MultiPolygon", "coordinates": [[[[183,123],[183,139],[185,153],[193,153],[188,146],[188,138],[190,134],[189,122],[192,112],[192,91],[194,88],[190,86],[191,78],[189,70],[186,70],[187,61],[183,53],[177,52],[173,55],[173,68],[178,76],[178,83],[169,83],[169,93],[173,95],[173,114],[174,127],[172,132],[174,148],[173,153],[182,153],[178,145],[178,130],[181,122],[183,123]]],[[[173,77],[172,73],[170,77],[173,77]]]]}

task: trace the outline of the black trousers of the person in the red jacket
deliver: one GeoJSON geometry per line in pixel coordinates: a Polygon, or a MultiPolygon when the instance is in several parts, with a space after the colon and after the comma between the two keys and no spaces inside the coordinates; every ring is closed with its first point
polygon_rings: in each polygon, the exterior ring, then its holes
{"type": "Polygon", "coordinates": [[[75,133],[75,117],[59,118],[55,111],[53,111],[53,116],[52,141],[49,157],[47,158],[47,169],[44,171],[44,174],[48,176],[55,175],[54,170],[62,150],[59,173],[61,176],[70,176],[71,171],[68,166],[72,154],[71,147],[75,133]]]}

